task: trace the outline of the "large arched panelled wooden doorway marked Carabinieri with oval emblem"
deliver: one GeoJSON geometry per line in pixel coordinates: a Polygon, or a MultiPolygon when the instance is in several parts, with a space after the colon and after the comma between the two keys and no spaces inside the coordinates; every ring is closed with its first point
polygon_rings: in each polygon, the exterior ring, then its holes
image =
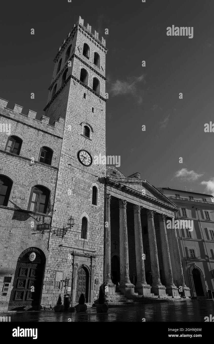
{"type": "Polygon", "coordinates": [[[38,310],[45,269],[45,255],[36,247],[24,250],[18,258],[8,310],[38,310]]]}

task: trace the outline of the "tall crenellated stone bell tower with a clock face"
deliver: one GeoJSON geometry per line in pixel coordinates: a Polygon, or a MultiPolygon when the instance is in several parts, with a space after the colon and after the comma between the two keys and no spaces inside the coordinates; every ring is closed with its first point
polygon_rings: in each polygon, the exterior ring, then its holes
{"type": "MultiPolygon", "coordinates": [[[[105,164],[105,40],[79,17],[54,59],[44,109],[52,124],[65,118],[49,249],[49,280],[72,280],[73,300],[91,302],[103,283],[105,164]],[[73,224],[74,223],[74,224],[73,224]],[[63,234],[62,234],[63,233],[63,234]],[[81,277],[81,278],[80,278],[81,277]]],[[[57,299],[57,289],[52,290],[57,299]]]]}

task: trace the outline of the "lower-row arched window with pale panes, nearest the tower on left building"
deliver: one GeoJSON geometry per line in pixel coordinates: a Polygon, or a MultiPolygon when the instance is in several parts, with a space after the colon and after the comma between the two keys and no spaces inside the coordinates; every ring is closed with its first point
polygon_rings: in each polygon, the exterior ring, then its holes
{"type": "Polygon", "coordinates": [[[31,189],[28,210],[35,213],[46,213],[49,208],[50,191],[41,185],[35,185],[31,189]]]}

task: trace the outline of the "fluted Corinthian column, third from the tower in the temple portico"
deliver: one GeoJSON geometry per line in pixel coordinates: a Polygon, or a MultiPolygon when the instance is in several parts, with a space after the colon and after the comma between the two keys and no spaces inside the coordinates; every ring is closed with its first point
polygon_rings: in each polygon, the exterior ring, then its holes
{"type": "Polygon", "coordinates": [[[151,287],[146,283],[142,227],[140,221],[140,206],[134,205],[134,224],[135,224],[135,254],[137,267],[137,284],[135,290],[141,295],[150,295],[151,287]]]}

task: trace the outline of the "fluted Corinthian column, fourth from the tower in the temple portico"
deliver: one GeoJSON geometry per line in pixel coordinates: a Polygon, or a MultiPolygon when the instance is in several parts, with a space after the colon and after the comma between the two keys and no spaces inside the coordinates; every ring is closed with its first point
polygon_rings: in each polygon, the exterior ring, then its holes
{"type": "Polygon", "coordinates": [[[147,210],[147,223],[148,223],[148,235],[149,235],[149,250],[151,259],[151,273],[153,283],[151,285],[151,291],[159,296],[166,295],[166,287],[162,286],[160,282],[160,271],[158,262],[158,250],[155,235],[154,225],[154,211],[147,210]]]}

